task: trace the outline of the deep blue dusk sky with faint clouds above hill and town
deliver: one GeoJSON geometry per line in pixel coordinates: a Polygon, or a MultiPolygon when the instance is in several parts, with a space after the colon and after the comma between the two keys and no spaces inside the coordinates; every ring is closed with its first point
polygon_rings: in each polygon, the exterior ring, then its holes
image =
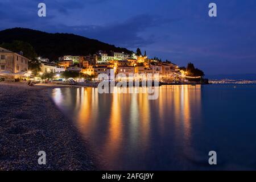
{"type": "Polygon", "coordinates": [[[1,0],[0,7],[0,30],[67,32],[140,47],[180,66],[191,61],[207,75],[256,73],[255,0],[1,0]],[[40,2],[45,18],[38,16],[40,2]],[[208,16],[210,2],[217,17],[208,16]]]}

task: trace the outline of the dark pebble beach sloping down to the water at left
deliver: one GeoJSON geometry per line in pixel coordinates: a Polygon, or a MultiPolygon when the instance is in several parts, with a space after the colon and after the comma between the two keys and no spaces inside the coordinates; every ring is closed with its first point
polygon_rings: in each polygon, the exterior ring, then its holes
{"type": "Polygon", "coordinates": [[[96,158],[49,97],[51,88],[0,83],[0,170],[95,170],[96,158]],[[46,152],[46,165],[38,152],[46,152]]]}

